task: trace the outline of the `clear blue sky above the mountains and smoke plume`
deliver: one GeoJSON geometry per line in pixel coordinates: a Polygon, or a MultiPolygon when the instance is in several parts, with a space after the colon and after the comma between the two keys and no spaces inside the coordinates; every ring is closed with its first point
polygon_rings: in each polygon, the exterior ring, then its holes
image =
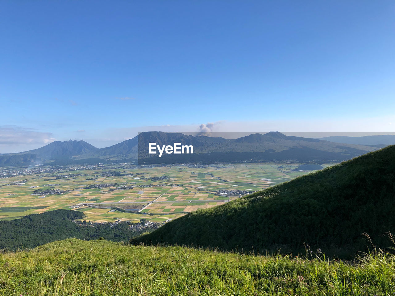
{"type": "Polygon", "coordinates": [[[0,153],[137,131],[393,131],[395,2],[2,1],[0,153]]]}

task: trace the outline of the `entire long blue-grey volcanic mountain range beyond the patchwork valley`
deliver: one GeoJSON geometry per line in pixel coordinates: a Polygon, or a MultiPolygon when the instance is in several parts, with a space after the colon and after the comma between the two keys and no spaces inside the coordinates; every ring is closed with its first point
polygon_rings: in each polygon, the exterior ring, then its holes
{"type": "Polygon", "coordinates": [[[320,139],[286,136],[280,132],[252,134],[238,139],[143,132],[110,147],[96,148],[85,141],[55,141],[38,149],[0,155],[0,166],[41,163],[71,164],[137,161],[140,164],[244,161],[343,161],[376,150],[371,146],[340,144],[320,139]],[[150,142],[193,145],[194,154],[148,153],[150,142]]]}

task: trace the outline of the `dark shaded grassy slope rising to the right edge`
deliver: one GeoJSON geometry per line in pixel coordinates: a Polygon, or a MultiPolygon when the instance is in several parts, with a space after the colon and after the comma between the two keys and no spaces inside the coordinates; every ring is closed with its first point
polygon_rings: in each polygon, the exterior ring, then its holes
{"type": "Polygon", "coordinates": [[[327,254],[366,250],[368,233],[385,246],[395,232],[395,146],[296,178],[221,206],[198,210],[132,240],[243,249],[327,254]]]}

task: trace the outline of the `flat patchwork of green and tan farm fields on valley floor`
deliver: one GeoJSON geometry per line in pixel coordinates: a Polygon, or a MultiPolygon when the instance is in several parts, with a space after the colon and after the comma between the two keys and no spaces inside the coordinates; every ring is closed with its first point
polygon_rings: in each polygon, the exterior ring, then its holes
{"type": "Polygon", "coordinates": [[[299,165],[112,166],[0,178],[0,219],[74,209],[97,222],[166,222],[309,173],[294,171],[299,165]],[[111,176],[110,169],[119,174],[111,176]]]}

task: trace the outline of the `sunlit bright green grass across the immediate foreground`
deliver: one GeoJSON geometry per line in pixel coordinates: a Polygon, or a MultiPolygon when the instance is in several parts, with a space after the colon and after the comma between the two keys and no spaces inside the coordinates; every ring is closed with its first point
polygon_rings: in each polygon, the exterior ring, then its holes
{"type": "Polygon", "coordinates": [[[0,254],[0,295],[392,295],[395,257],[352,265],[67,239],[0,254]]]}

